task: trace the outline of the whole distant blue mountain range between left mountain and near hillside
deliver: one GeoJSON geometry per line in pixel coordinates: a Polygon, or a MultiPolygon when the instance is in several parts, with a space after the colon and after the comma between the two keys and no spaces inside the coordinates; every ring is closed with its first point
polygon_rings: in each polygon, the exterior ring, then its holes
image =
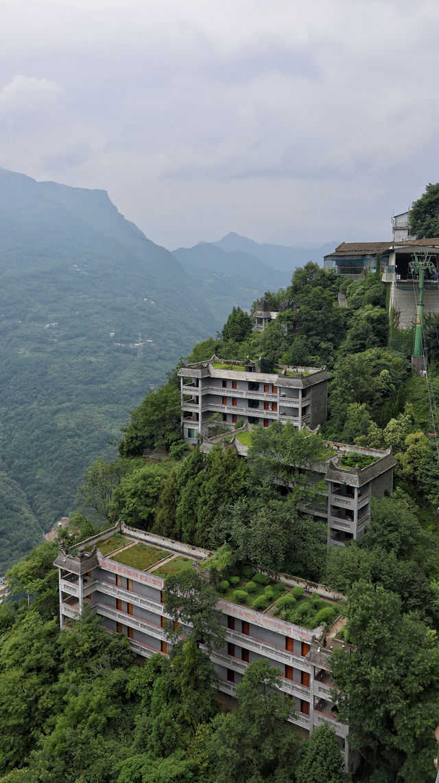
{"type": "Polygon", "coordinates": [[[231,291],[235,292],[235,305],[249,308],[266,290],[287,287],[298,266],[308,261],[321,265],[323,255],[333,251],[335,244],[314,248],[258,244],[232,232],[219,242],[179,247],[173,254],[184,265],[203,298],[216,311],[223,312],[231,291]]]}

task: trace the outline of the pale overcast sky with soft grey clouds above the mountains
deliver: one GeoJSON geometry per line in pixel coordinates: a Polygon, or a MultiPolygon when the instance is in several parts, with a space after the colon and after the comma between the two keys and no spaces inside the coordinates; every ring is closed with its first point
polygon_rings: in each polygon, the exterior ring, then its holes
{"type": "Polygon", "coordinates": [[[439,180],[437,0],[2,0],[0,166],[165,247],[386,240],[439,180]]]}

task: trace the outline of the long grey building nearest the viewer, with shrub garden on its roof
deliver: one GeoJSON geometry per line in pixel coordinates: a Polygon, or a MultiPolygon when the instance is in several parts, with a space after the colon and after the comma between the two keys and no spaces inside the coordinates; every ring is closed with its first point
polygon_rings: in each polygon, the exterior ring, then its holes
{"type": "MultiPolygon", "coordinates": [[[[59,569],[61,626],[68,625],[70,618],[77,618],[84,604],[88,604],[101,617],[105,628],[128,637],[131,650],[138,655],[168,655],[170,643],[163,627],[168,616],[162,601],[164,579],[178,567],[196,567],[209,554],[129,528],[123,522],[72,550],[60,549],[55,566],[59,569]]],[[[342,594],[322,585],[284,574],[271,576],[287,589],[303,586],[306,593],[318,594],[328,604],[337,606],[344,600],[342,594]]],[[[337,735],[346,767],[352,767],[355,759],[346,742],[348,727],[337,720],[329,660],[331,649],[344,645],[343,640],[336,639],[343,620],[338,619],[329,630],[324,625],[309,629],[273,615],[272,607],[258,612],[220,600],[217,608],[226,629],[225,644],[212,650],[211,655],[219,691],[234,697],[248,664],[268,659],[280,671],[280,689],[294,704],[292,722],[305,734],[321,723],[329,723],[337,735]]],[[[181,627],[182,636],[186,632],[181,627]]]]}

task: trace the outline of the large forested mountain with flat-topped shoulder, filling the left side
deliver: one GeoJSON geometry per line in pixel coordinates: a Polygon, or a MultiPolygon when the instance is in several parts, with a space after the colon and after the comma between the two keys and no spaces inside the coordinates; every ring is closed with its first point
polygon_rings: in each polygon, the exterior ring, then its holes
{"type": "Polygon", "coordinates": [[[223,320],[107,193],[5,169],[0,270],[1,574],[71,511],[130,410],[223,320]]]}

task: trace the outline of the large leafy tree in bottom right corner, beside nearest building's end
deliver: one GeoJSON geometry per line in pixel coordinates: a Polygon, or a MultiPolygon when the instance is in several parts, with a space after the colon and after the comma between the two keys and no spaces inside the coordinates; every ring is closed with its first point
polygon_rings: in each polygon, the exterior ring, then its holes
{"type": "Polygon", "coordinates": [[[380,585],[356,583],[347,616],[354,647],[334,651],[331,668],[349,744],[361,749],[382,780],[430,780],[439,696],[436,634],[416,615],[402,614],[399,597],[380,585]]]}

